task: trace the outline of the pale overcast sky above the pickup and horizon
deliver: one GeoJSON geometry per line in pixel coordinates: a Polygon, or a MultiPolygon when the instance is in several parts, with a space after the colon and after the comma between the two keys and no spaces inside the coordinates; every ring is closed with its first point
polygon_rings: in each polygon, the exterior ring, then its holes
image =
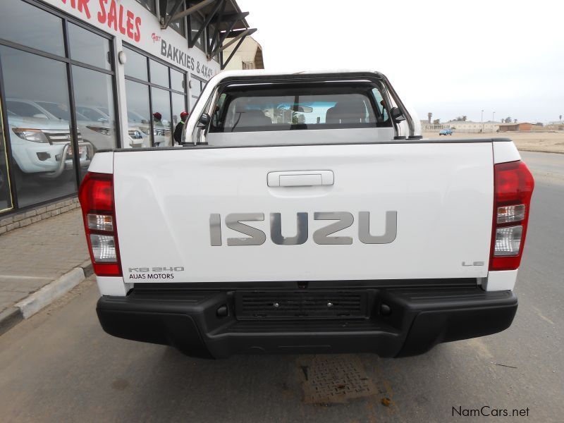
{"type": "Polygon", "coordinates": [[[380,71],[421,119],[564,117],[564,0],[237,2],[267,69],[380,71]]]}

